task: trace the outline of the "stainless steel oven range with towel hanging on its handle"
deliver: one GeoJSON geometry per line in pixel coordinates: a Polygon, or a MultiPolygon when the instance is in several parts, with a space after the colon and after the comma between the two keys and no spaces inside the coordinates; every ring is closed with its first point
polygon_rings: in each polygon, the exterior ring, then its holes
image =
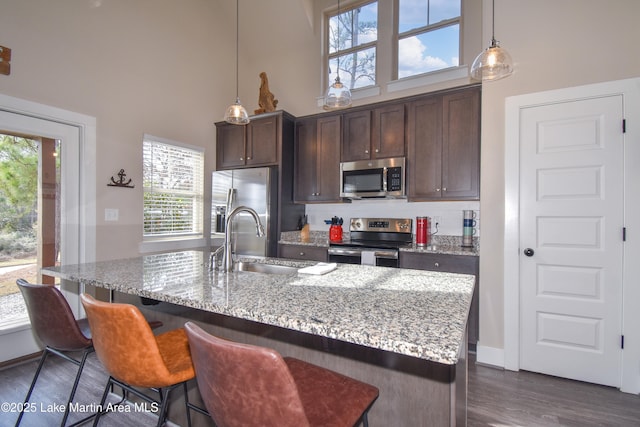
{"type": "Polygon", "coordinates": [[[413,243],[409,218],[351,218],[349,240],[329,243],[329,261],[398,267],[401,247],[413,243]]]}

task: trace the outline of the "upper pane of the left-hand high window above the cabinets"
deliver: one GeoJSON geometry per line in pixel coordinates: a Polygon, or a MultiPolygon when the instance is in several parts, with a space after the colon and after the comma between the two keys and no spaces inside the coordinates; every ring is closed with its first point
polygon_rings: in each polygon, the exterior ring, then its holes
{"type": "Polygon", "coordinates": [[[329,53],[357,47],[378,39],[378,3],[342,12],[329,19],[329,53]]]}

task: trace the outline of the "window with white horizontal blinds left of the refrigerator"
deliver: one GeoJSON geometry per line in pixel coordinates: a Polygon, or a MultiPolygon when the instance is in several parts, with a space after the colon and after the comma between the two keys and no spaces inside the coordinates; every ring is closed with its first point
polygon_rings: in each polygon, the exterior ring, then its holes
{"type": "Polygon", "coordinates": [[[142,157],[144,238],[201,237],[203,150],[145,135],[142,157]]]}

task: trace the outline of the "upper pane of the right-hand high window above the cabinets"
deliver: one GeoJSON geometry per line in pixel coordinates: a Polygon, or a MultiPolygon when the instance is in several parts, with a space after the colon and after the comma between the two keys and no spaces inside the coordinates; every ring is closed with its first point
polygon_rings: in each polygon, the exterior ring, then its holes
{"type": "Polygon", "coordinates": [[[399,32],[460,16],[460,0],[398,0],[399,32]]]}

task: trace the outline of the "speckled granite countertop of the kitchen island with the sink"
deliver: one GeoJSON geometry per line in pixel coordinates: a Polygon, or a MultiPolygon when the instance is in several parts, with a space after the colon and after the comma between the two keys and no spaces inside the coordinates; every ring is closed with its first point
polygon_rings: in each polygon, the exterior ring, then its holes
{"type": "Polygon", "coordinates": [[[447,365],[461,356],[474,276],[349,264],[324,275],[223,274],[208,265],[208,252],[184,251],[43,273],[447,365]]]}

